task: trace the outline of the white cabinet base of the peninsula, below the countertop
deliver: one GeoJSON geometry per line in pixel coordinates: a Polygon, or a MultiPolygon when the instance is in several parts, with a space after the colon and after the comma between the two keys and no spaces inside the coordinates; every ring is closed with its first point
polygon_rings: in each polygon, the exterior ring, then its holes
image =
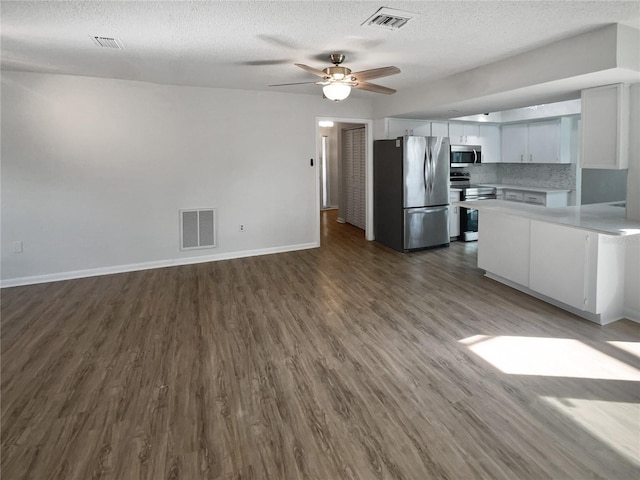
{"type": "Polygon", "coordinates": [[[624,315],[625,237],[480,212],[478,267],[596,323],[624,315]]]}

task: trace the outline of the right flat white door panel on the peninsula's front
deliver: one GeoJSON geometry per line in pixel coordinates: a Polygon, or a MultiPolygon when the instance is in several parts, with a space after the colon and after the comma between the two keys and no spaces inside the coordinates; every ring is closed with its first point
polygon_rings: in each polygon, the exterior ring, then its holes
{"type": "Polygon", "coordinates": [[[532,220],[529,288],[586,310],[590,235],[585,230],[532,220]]]}

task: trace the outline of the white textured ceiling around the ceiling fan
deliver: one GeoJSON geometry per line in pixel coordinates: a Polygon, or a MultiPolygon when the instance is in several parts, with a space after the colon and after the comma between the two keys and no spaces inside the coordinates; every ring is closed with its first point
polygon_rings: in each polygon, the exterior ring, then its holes
{"type": "Polygon", "coordinates": [[[606,24],[640,28],[640,2],[3,0],[1,22],[3,69],[319,93],[267,85],[314,80],[293,63],[323,68],[340,52],[353,70],[398,66],[376,82],[409,88],[606,24]],[[361,26],[382,6],[417,15],[398,31],[361,26]]]}

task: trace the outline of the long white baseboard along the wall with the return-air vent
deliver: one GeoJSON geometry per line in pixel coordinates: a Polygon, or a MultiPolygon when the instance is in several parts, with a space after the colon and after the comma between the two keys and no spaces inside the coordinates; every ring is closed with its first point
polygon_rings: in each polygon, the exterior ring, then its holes
{"type": "Polygon", "coordinates": [[[97,277],[100,275],[112,275],[114,273],[135,272],[139,270],[151,270],[154,268],[175,267],[178,265],[192,265],[194,263],[217,262],[220,260],[232,260],[234,258],[256,257],[258,255],[271,255],[272,253],[294,252],[318,248],[316,242],[301,243],[298,245],[286,245],[283,247],[260,248],[257,250],[244,250],[240,252],[219,253],[214,255],[202,255],[197,257],[174,258],[159,260],[156,262],[132,263],[128,265],[115,265],[113,267],[89,268],[86,270],[73,270],[70,272],[51,273],[47,275],[34,275],[31,277],[9,278],[0,282],[1,288],[19,287],[23,285],[35,285],[37,283],[59,282],[75,278],[97,277]]]}

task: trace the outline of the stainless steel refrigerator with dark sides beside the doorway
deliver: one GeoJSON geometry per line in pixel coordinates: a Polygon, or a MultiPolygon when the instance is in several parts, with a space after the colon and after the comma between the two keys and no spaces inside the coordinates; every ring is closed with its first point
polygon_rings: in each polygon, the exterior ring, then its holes
{"type": "Polygon", "coordinates": [[[449,138],[373,144],[376,241],[407,252],[449,245],[449,138]]]}

